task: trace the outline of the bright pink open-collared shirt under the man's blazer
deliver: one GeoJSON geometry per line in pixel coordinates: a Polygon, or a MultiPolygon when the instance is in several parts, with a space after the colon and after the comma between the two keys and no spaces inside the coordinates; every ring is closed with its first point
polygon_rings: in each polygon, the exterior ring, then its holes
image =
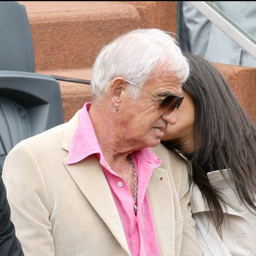
{"type": "Polygon", "coordinates": [[[133,211],[134,199],[128,185],[105,162],[88,114],[90,105],[90,102],[86,103],[80,111],[79,125],[72,137],[67,164],[79,162],[91,154],[98,156],[116,203],[132,256],[158,256],[160,252],[157,234],[146,189],[153,169],[161,164],[161,160],[149,148],[135,151],[131,155],[138,175],[136,216],[133,211]]]}

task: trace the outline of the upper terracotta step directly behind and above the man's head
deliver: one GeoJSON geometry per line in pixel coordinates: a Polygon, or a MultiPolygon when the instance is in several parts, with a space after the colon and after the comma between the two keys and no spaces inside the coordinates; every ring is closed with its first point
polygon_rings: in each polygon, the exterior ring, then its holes
{"type": "Polygon", "coordinates": [[[26,2],[38,71],[89,68],[103,45],[140,27],[176,32],[175,1],[26,2]]]}

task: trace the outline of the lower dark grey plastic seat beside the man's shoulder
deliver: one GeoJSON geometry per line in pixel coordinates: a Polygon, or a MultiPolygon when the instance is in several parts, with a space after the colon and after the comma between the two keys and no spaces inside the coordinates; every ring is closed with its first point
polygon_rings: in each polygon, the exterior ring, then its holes
{"type": "Polygon", "coordinates": [[[64,123],[59,82],[50,75],[0,71],[0,173],[21,140],[64,123]]]}

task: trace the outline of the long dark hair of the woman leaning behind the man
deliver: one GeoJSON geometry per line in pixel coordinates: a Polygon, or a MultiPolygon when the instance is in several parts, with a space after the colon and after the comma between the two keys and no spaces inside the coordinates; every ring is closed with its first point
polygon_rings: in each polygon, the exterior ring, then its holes
{"type": "MultiPolygon", "coordinates": [[[[192,163],[193,181],[211,209],[221,236],[222,200],[209,183],[207,173],[230,169],[230,185],[253,213],[256,210],[256,125],[213,64],[192,53],[184,55],[190,64],[190,75],[183,89],[195,103],[194,138],[197,139],[197,150],[187,157],[192,163]]],[[[182,139],[162,143],[182,152],[182,139]]]]}

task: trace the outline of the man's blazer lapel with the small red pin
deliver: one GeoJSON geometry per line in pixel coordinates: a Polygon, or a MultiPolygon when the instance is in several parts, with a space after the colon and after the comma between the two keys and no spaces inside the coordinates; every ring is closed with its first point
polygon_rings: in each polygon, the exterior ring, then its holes
{"type": "Polygon", "coordinates": [[[162,255],[175,253],[175,205],[166,169],[155,168],[147,188],[162,255]],[[162,177],[162,179],[161,179],[162,177]]]}

